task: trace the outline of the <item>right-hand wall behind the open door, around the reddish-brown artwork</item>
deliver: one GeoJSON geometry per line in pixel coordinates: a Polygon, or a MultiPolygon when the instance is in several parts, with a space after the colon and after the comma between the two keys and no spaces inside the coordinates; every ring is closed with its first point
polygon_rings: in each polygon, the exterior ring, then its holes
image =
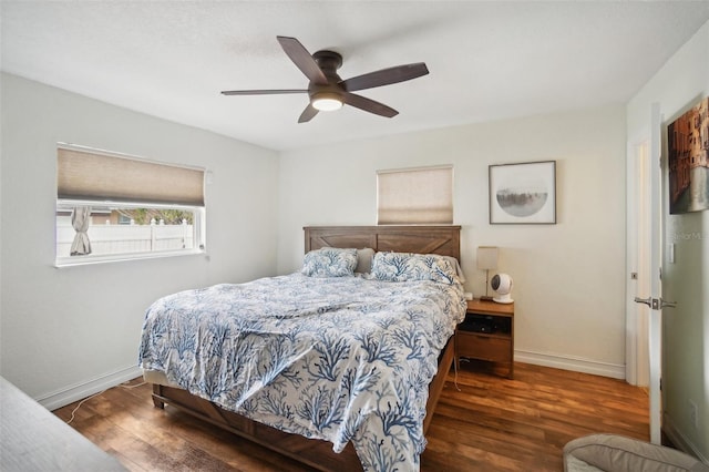
{"type": "MultiPolygon", "coordinates": [[[[662,114],[662,156],[667,158],[667,125],[709,96],[709,22],[689,40],[627,106],[628,135],[647,126],[650,104],[662,114]]],[[[669,215],[665,192],[665,248],[674,243],[676,263],[665,250],[662,298],[677,301],[664,310],[662,429],[675,443],[709,461],[709,211],[669,215]],[[689,401],[699,408],[695,429],[689,401]]]]}

